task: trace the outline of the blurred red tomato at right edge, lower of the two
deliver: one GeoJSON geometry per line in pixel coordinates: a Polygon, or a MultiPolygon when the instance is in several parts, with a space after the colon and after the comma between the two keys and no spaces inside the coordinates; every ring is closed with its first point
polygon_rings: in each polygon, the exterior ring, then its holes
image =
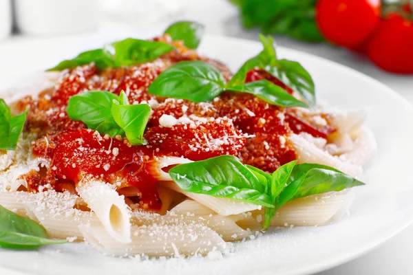
{"type": "Polygon", "coordinates": [[[366,50],[381,69],[413,74],[413,22],[399,14],[390,14],[381,20],[366,50]]]}

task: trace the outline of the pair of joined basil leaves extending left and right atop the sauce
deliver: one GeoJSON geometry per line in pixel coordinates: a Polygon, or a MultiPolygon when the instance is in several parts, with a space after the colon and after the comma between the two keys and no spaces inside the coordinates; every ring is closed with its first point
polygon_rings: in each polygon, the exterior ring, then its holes
{"type": "Polygon", "coordinates": [[[283,107],[308,107],[284,89],[262,80],[229,85],[213,66],[202,61],[182,61],[165,69],[149,86],[149,94],[180,98],[192,102],[211,101],[224,91],[254,94],[268,103],[283,107]]]}

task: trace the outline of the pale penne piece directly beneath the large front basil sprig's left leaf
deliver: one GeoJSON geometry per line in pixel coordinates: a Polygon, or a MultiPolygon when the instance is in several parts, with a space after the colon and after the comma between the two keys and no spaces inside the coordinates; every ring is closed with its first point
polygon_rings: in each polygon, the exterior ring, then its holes
{"type": "Polygon", "coordinates": [[[176,192],[180,192],[191,199],[198,201],[199,203],[211,208],[222,216],[229,216],[231,214],[240,214],[252,210],[261,209],[261,206],[257,206],[252,203],[246,203],[244,201],[235,201],[234,199],[225,199],[212,197],[209,195],[195,194],[191,192],[185,192],[180,189],[173,181],[162,181],[160,184],[176,192]]]}

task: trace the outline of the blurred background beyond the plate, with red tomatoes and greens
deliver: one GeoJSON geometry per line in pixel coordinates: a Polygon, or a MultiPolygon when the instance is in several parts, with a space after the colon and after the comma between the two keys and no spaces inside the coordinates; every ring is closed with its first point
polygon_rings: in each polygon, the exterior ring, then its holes
{"type": "MultiPolygon", "coordinates": [[[[45,64],[47,52],[63,50],[56,41],[78,42],[65,49],[75,55],[98,36],[149,38],[191,20],[207,34],[273,34],[277,45],[352,67],[413,102],[412,8],[413,0],[0,0],[0,89],[59,61],[45,64]]],[[[410,274],[412,233],[322,274],[410,274]]]]}

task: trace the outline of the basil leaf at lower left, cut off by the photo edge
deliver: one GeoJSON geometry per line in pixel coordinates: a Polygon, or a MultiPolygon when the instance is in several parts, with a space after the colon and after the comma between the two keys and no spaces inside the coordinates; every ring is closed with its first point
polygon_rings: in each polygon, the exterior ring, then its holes
{"type": "Polygon", "coordinates": [[[32,250],[43,245],[65,242],[47,239],[46,231],[41,225],[0,206],[1,248],[32,250]]]}

